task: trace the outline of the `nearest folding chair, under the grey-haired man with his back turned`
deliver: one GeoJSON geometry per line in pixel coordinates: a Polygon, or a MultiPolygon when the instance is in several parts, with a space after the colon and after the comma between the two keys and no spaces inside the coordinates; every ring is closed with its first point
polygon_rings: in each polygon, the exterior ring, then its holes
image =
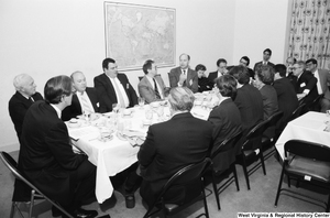
{"type": "Polygon", "coordinates": [[[207,206],[207,200],[205,195],[205,187],[204,187],[204,173],[210,166],[210,164],[211,164],[211,160],[207,157],[200,163],[189,164],[188,166],[185,166],[182,170],[179,170],[164,185],[161,194],[157,197],[157,200],[155,200],[153,206],[148,208],[144,217],[150,217],[161,210],[163,210],[165,216],[172,216],[187,208],[188,206],[195,204],[200,199],[204,200],[204,207],[205,207],[205,214],[202,215],[209,217],[209,211],[208,211],[208,206],[207,206]],[[194,196],[189,193],[190,195],[186,195],[185,198],[183,199],[183,203],[179,205],[166,203],[165,196],[170,190],[170,188],[178,187],[178,186],[187,187],[191,185],[196,185],[196,188],[198,188],[196,192],[194,192],[195,194],[194,196]]]}

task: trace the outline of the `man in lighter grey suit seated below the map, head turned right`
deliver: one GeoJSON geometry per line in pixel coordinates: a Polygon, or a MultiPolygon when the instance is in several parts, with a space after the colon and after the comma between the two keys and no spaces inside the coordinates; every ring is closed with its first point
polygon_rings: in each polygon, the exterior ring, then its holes
{"type": "Polygon", "coordinates": [[[140,96],[147,103],[164,99],[165,84],[161,75],[157,74],[157,66],[154,61],[147,59],[142,68],[145,76],[138,85],[140,96]]]}

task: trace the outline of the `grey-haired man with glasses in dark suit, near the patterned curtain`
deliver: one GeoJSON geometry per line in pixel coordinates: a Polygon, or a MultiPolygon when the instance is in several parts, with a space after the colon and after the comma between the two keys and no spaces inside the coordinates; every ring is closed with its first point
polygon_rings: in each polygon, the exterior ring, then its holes
{"type": "Polygon", "coordinates": [[[297,77],[295,84],[295,90],[298,99],[304,98],[304,102],[308,106],[318,97],[317,78],[306,70],[306,64],[304,61],[298,61],[293,67],[294,75],[297,77]]]}

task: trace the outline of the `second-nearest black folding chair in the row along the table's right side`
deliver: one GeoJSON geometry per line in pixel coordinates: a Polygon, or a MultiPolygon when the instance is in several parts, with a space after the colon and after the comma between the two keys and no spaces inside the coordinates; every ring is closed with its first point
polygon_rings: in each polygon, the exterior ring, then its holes
{"type": "MultiPolygon", "coordinates": [[[[237,157],[237,146],[238,141],[241,139],[242,132],[238,132],[237,134],[223,140],[223,142],[218,145],[217,150],[212,153],[211,159],[215,160],[216,157],[221,157],[228,161],[228,163],[224,163],[226,166],[216,167],[215,161],[211,165],[212,171],[212,185],[213,185],[213,192],[217,199],[218,209],[220,210],[220,198],[219,195],[222,193],[233,181],[237,184],[238,190],[240,190],[239,179],[238,179],[238,173],[235,167],[235,157],[237,157]],[[229,177],[219,188],[217,187],[216,183],[216,176],[221,175],[221,173],[226,170],[228,170],[233,173],[233,176],[229,177]]],[[[221,164],[221,163],[220,163],[221,164]]]]}

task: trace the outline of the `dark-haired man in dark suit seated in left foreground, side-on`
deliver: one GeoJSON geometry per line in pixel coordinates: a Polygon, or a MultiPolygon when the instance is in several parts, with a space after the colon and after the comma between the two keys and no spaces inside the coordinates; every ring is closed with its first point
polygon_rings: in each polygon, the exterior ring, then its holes
{"type": "Polygon", "coordinates": [[[29,181],[58,201],[74,217],[92,218],[96,210],[81,209],[81,201],[95,197],[96,166],[85,154],[75,154],[62,110],[72,103],[72,80],[51,78],[45,101],[37,101],[25,115],[19,168],[29,181]]]}

